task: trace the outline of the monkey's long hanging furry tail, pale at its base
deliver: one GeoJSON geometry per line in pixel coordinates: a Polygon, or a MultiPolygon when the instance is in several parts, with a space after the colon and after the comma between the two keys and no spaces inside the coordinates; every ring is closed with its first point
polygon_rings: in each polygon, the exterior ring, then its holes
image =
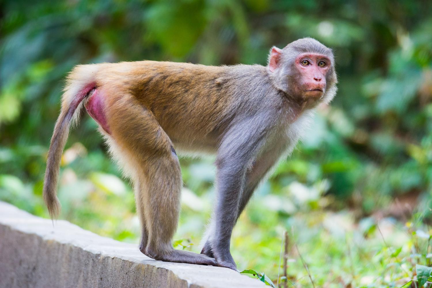
{"type": "Polygon", "coordinates": [[[60,170],[61,155],[69,136],[71,123],[78,122],[81,103],[95,88],[96,65],[76,66],[69,74],[67,85],[62,96],[62,108],[54,127],[48,150],[47,169],[45,171],[43,196],[51,219],[60,213],[60,202],[57,198],[57,182],[60,170]]]}

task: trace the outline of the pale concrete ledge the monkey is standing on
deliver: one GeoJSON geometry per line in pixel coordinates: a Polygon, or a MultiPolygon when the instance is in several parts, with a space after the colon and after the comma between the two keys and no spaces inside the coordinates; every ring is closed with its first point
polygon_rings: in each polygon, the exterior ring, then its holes
{"type": "Polygon", "coordinates": [[[0,287],[265,287],[227,268],[156,261],[137,246],[0,202],[0,287]]]}

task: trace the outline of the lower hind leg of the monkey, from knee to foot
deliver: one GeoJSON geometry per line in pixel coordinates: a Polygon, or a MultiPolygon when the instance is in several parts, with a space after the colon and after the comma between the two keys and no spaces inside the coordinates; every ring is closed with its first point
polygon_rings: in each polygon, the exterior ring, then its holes
{"type": "Polygon", "coordinates": [[[145,221],[140,250],[156,260],[216,266],[216,260],[211,257],[172,247],[180,210],[181,173],[176,157],[163,158],[150,157],[149,161],[155,165],[143,165],[145,179],[141,181],[146,183],[146,188],[137,191],[145,221]]]}

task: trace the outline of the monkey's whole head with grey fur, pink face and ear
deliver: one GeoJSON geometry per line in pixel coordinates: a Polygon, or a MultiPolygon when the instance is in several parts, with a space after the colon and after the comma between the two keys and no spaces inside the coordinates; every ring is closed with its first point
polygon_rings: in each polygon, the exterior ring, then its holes
{"type": "Polygon", "coordinates": [[[273,47],[268,70],[274,86],[291,97],[330,102],[336,94],[333,52],[315,39],[299,39],[283,49],[273,47]]]}

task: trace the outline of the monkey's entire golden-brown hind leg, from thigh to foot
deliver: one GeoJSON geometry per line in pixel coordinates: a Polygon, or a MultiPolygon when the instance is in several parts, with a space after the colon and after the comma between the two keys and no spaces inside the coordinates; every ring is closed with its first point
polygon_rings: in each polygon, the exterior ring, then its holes
{"type": "Polygon", "coordinates": [[[152,112],[133,99],[114,103],[111,112],[122,115],[111,124],[111,135],[122,153],[127,154],[127,170],[132,174],[143,229],[140,250],[156,260],[216,266],[213,258],[172,246],[182,179],[168,135],[152,112]]]}

